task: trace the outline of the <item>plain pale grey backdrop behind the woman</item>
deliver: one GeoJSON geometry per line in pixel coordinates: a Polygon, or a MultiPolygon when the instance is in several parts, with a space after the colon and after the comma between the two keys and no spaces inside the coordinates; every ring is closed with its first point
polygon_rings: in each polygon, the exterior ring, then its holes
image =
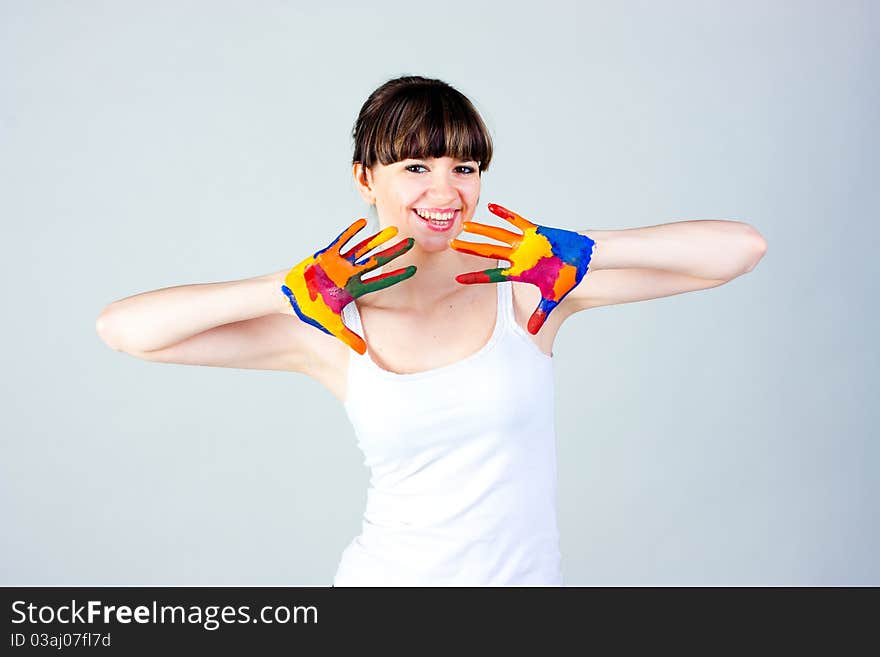
{"type": "Polygon", "coordinates": [[[769,244],[560,332],[566,584],[880,584],[878,3],[0,7],[0,583],[330,584],[369,476],[335,398],[95,318],[326,245],[361,103],[419,74],[495,138],[478,218],[769,244]]]}

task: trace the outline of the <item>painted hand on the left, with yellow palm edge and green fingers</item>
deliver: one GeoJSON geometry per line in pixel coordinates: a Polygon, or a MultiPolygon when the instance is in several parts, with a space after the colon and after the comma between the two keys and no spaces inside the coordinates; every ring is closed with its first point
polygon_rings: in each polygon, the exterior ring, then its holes
{"type": "Polygon", "coordinates": [[[415,265],[410,265],[368,281],[362,280],[361,277],[366,272],[406,253],[415,243],[410,237],[358,262],[358,258],[397,234],[397,228],[389,226],[348,252],[341,253],[345,243],[366,225],[366,219],[355,221],[326,248],[287,272],[284,285],[281,286],[281,291],[287,295],[290,305],[301,320],[339,338],[359,354],[366,352],[367,345],[361,336],[343,323],[342,309],[357,297],[399,283],[416,273],[415,265]]]}

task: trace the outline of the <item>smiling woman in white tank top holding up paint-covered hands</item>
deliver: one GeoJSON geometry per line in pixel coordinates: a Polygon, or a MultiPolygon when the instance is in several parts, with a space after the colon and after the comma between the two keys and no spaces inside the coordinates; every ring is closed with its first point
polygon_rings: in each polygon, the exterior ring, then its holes
{"type": "Polygon", "coordinates": [[[353,136],[379,233],[347,246],[360,220],[291,270],[122,299],[98,333],[151,361],[301,372],[342,402],[372,476],[336,586],[561,585],[560,326],[721,285],[766,243],[736,221],[578,232],[491,204],[508,228],[471,223],[492,140],[440,80],[383,84],[353,136]],[[463,230],[501,244],[456,239],[463,230]]]}

